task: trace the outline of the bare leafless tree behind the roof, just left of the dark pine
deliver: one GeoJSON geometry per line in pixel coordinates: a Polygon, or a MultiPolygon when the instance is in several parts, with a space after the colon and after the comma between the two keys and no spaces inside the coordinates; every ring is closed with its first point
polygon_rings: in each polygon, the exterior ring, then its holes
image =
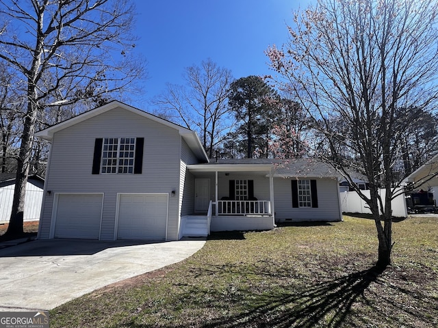
{"type": "Polygon", "coordinates": [[[201,66],[185,68],[185,85],[168,84],[167,90],[154,103],[162,110],[159,115],[196,128],[207,154],[211,158],[231,128],[228,119],[227,92],[231,71],[221,68],[211,59],[201,66]]]}

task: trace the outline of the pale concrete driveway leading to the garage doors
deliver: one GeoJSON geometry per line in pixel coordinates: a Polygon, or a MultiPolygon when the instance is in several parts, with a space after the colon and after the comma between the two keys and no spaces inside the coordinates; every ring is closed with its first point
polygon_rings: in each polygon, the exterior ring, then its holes
{"type": "Polygon", "coordinates": [[[0,311],[51,310],[108,284],[179,262],[205,240],[51,239],[0,249],[0,311]]]}

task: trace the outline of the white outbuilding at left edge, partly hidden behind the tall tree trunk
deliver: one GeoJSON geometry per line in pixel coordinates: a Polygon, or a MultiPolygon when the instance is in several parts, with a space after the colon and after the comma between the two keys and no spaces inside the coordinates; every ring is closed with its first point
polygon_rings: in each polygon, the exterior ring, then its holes
{"type": "MultiPolygon", "coordinates": [[[[0,223],[9,223],[15,189],[14,173],[0,174],[0,223]]],[[[44,179],[36,174],[29,176],[26,184],[24,221],[38,221],[42,204],[44,179]]]]}

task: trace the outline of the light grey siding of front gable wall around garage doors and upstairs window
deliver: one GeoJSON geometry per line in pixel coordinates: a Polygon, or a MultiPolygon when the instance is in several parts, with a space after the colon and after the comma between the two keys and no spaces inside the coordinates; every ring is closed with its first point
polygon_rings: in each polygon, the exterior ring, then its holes
{"type": "MultiPolygon", "coordinates": [[[[179,189],[179,131],[125,109],[112,109],[55,133],[40,228],[49,238],[53,193],[105,193],[101,239],[113,240],[118,193],[170,193],[179,189]],[[123,122],[123,123],[122,123],[123,122]],[[142,174],[92,174],[95,139],[144,137],[142,174]],[[147,156],[146,156],[147,154],[147,156]],[[47,219],[49,218],[49,219],[47,219]]],[[[168,240],[177,240],[179,197],[169,197],[168,240]]]]}

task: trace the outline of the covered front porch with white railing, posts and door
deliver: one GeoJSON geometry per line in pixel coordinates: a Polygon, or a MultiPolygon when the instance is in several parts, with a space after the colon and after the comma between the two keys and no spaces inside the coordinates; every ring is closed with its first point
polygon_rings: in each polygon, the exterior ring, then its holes
{"type": "Polygon", "coordinates": [[[193,184],[193,213],[181,219],[188,223],[205,216],[209,231],[274,228],[272,163],[223,162],[188,165],[186,182],[193,184]]]}

